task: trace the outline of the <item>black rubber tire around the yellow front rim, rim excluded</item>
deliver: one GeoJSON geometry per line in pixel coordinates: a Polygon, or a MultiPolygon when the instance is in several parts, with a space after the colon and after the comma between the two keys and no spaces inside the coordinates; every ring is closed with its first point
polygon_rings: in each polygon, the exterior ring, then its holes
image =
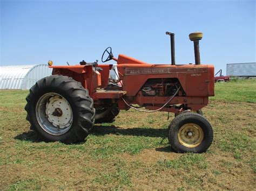
{"type": "Polygon", "coordinates": [[[202,153],[205,152],[207,148],[210,147],[212,144],[213,130],[211,124],[207,121],[205,117],[194,112],[185,112],[183,114],[179,114],[170,123],[168,139],[173,150],[176,152],[202,153]],[[184,146],[183,144],[181,144],[178,138],[180,128],[185,124],[191,123],[200,126],[200,128],[203,130],[203,139],[201,140],[200,144],[195,147],[184,146]]]}

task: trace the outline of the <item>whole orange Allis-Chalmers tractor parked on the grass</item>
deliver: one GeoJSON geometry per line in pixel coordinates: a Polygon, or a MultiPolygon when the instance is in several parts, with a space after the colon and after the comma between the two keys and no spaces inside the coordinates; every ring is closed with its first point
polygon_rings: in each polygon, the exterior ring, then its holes
{"type": "Polygon", "coordinates": [[[118,80],[109,79],[112,65],[80,62],[75,66],[52,66],[52,75],[36,82],[26,97],[30,128],[47,142],[83,141],[94,123],[113,121],[119,110],[173,112],[169,142],[176,152],[204,152],[211,145],[213,130],[201,108],[214,96],[214,67],[200,65],[199,40],[194,42],[195,64],[176,65],[174,34],[171,64],[151,64],[105,49],[102,62],[117,62],[118,80]],[[147,110],[138,108],[144,107],[147,110]]]}

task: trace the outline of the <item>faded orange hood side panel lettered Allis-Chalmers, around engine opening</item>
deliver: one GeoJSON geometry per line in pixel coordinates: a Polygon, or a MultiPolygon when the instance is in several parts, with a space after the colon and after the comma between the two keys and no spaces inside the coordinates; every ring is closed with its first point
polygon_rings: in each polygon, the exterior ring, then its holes
{"type": "Polygon", "coordinates": [[[135,96],[147,79],[177,78],[187,96],[214,95],[212,65],[117,65],[126,96],[135,96]]]}

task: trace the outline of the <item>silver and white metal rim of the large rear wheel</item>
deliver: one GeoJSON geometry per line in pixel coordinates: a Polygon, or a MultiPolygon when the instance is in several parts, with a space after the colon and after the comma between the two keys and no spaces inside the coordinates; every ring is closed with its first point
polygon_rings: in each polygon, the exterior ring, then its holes
{"type": "Polygon", "coordinates": [[[47,93],[41,96],[36,104],[36,118],[44,131],[60,136],[71,128],[73,112],[63,96],[47,93]]]}

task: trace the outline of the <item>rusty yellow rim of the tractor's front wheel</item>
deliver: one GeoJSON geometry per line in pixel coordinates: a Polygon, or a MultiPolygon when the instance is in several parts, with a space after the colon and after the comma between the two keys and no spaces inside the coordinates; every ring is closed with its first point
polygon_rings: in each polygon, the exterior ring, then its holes
{"type": "Polygon", "coordinates": [[[195,123],[187,123],[178,131],[178,139],[181,145],[186,147],[196,147],[203,142],[203,129],[195,123]]]}

